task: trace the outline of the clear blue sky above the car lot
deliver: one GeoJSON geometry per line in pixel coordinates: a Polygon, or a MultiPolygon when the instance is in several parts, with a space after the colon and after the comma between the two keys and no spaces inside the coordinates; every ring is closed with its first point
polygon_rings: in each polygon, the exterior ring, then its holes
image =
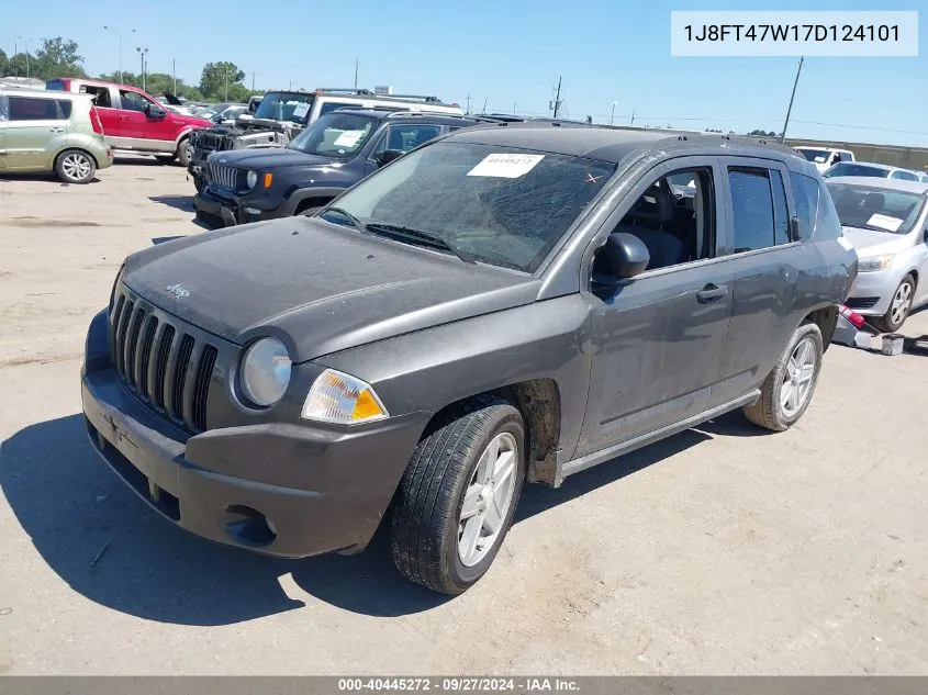
{"type": "MultiPolygon", "coordinates": [[[[138,71],[136,45],[150,71],[199,81],[210,60],[255,72],[260,88],[390,85],[437,94],[476,110],[547,113],[558,77],[571,117],[737,133],[780,131],[796,59],[670,56],[670,11],[918,10],[924,0],[806,2],[624,2],[622,0],[7,0],[0,48],[18,36],[62,35],[80,44],[90,74],[118,69],[114,35],[123,30],[123,67],[138,71]],[[277,20],[276,18],[282,18],[277,20]],[[130,35],[131,29],[136,33],[130,35]]],[[[928,12],[924,13],[928,15],[928,12]]],[[[928,48],[917,58],[809,58],[803,67],[791,137],[928,146],[928,48]],[[863,127],[852,127],[863,126],[863,127]]],[[[20,42],[22,46],[22,42],[20,42]]]]}

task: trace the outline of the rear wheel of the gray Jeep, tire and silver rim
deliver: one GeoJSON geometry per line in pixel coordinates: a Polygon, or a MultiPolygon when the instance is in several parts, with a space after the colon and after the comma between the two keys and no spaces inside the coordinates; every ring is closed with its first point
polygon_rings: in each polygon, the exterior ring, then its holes
{"type": "Polygon", "coordinates": [[[821,330],[806,323],[796,328],[773,370],[761,384],[760,399],[745,406],[745,415],[754,425],[771,431],[792,427],[806,412],[825,352],[821,330]]]}

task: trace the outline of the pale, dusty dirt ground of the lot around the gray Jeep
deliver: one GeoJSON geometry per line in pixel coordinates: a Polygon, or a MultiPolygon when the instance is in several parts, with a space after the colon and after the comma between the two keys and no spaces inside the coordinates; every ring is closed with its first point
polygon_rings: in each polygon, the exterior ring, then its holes
{"type": "Polygon", "coordinates": [[[185,179],[0,179],[0,673],[928,674],[928,354],[832,347],[791,431],[730,415],[529,487],[454,599],[382,534],[287,562],[164,522],[85,440],[78,381],[122,258],[202,233],[185,179]]]}

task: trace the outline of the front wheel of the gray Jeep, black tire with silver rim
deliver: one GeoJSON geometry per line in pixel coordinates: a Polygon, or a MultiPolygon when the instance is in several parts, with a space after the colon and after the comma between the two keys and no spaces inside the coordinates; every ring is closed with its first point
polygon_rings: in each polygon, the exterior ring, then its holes
{"type": "Polygon", "coordinates": [[[525,425],[507,401],[481,396],[439,415],[400,483],[391,529],[400,572],[449,595],[477,583],[512,525],[525,458],[525,425]]]}

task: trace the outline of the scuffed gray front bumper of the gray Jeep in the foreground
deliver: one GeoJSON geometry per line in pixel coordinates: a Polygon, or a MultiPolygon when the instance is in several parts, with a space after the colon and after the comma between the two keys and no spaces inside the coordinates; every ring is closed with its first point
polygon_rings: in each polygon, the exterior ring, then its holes
{"type": "Polygon", "coordinates": [[[105,345],[101,315],[91,324],[98,335],[88,335],[81,373],[87,431],[149,506],[198,536],[271,556],[367,546],[425,426],[422,417],[364,429],[270,423],[190,436],[131,393],[94,350],[105,345]]]}

